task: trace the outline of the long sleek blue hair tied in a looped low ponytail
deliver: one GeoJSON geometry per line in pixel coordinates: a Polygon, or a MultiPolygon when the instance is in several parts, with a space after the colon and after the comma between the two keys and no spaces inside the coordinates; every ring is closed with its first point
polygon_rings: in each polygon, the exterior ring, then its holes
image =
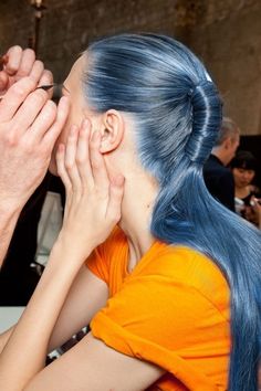
{"type": "Polygon", "coordinates": [[[164,35],[121,34],[87,50],[93,109],[133,115],[144,167],[159,183],[152,233],[209,256],[230,285],[230,391],[257,391],[261,351],[261,234],[207,191],[202,166],[221,103],[201,62],[164,35]]]}

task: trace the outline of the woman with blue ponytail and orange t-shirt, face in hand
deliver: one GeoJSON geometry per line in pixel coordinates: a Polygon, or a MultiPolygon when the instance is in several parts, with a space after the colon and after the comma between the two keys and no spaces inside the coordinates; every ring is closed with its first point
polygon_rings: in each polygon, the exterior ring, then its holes
{"type": "Polygon", "coordinates": [[[93,43],[63,89],[51,169],[64,223],[2,336],[1,388],[257,391],[261,236],[205,187],[221,102],[203,65],[170,38],[121,34],[93,43]]]}

